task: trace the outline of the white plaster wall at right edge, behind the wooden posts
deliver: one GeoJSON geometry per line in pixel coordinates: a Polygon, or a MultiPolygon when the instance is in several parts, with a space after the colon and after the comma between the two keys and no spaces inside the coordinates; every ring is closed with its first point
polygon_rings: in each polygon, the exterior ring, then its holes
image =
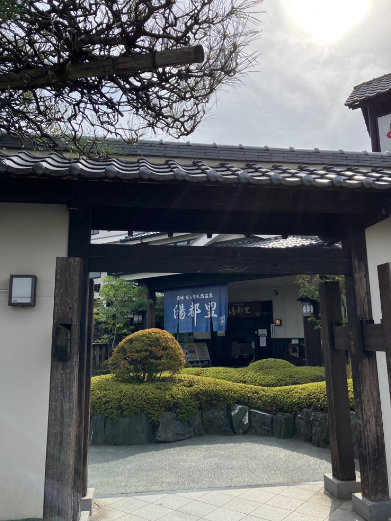
{"type": "MultiPolygon", "coordinates": [[[[368,255],[369,282],[371,286],[372,312],[376,324],[382,318],[380,292],[377,278],[377,266],[391,262],[391,218],[365,230],[366,251],[368,255]]],[[[388,375],[385,353],[376,353],[379,377],[380,398],[386,445],[388,482],[391,483],[391,402],[388,387],[388,375]]]]}

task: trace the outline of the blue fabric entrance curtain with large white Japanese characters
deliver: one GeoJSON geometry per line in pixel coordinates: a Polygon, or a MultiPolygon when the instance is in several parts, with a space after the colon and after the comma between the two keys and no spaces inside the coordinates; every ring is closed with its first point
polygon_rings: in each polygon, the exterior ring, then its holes
{"type": "Polygon", "coordinates": [[[164,329],[172,333],[226,330],[228,286],[193,286],[164,292],[164,329]]]}

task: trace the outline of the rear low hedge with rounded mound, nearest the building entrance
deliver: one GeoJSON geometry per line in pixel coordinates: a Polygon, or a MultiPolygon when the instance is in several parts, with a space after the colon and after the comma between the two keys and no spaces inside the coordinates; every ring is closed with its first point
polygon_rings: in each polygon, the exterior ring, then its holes
{"type": "Polygon", "coordinates": [[[207,376],[218,380],[247,383],[251,386],[281,387],[324,381],[324,367],[296,367],[285,360],[266,358],[248,367],[188,368],[186,375],[207,376]]]}

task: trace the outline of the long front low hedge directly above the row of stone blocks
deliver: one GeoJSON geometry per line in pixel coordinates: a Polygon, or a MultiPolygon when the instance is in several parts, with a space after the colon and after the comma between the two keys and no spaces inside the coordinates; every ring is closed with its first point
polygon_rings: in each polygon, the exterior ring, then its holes
{"type": "MultiPolygon", "coordinates": [[[[352,408],[351,380],[348,387],[352,408]]],[[[144,412],[152,423],[158,424],[166,411],[186,421],[198,410],[234,403],[270,414],[295,413],[303,407],[326,411],[325,382],[266,388],[200,376],[177,375],[153,383],[138,383],[102,375],[92,378],[91,384],[91,414],[103,414],[111,421],[144,412]]]]}

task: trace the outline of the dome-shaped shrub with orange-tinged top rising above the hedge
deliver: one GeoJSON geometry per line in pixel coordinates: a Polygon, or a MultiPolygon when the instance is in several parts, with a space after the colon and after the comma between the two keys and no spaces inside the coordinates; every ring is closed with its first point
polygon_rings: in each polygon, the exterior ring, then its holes
{"type": "Polygon", "coordinates": [[[185,356],[172,334],[162,329],[144,329],[124,338],[108,365],[121,379],[151,382],[163,371],[177,373],[185,366],[185,356]]]}

